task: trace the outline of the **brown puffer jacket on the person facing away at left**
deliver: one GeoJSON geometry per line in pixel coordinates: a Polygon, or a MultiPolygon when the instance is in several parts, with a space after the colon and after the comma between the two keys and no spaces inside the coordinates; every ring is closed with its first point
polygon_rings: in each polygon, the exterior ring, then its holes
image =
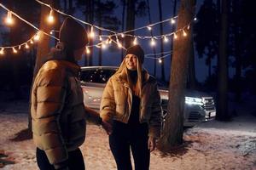
{"type": "Polygon", "coordinates": [[[85,111],[78,79],[79,65],[49,60],[38,71],[32,87],[32,133],[49,162],[67,160],[67,151],[84,143],[85,111]]]}

